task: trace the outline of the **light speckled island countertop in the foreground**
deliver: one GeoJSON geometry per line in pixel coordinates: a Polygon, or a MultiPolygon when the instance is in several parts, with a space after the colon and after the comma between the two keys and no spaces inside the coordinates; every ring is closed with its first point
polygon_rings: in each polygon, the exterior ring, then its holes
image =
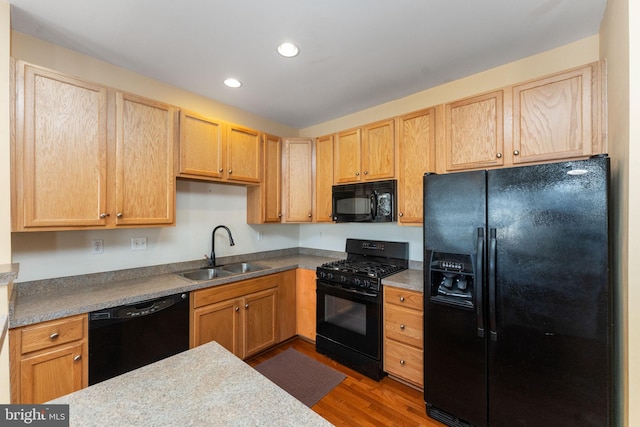
{"type": "Polygon", "coordinates": [[[71,426],[330,426],[210,342],[55,399],[71,426]]]}

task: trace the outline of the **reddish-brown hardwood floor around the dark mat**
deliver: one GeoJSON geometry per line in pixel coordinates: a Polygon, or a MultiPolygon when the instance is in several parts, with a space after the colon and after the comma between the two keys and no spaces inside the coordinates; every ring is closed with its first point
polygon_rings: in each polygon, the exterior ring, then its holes
{"type": "Polygon", "coordinates": [[[301,338],[287,341],[247,363],[251,366],[293,347],[300,353],[344,373],[347,378],[311,409],[336,426],[444,426],[427,417],[422,392],[389,377],[374,381],[317,353],[301,338]]]}

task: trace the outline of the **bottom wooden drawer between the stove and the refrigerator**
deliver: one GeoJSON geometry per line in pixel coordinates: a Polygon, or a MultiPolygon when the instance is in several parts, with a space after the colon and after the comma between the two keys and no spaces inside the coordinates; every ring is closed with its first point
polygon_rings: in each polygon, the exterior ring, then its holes
{"type": "Polygon", "coordinates": [[[424,385],[422,349],[392,340],[384,342],[384,370],[417,386],[424,385]]]}

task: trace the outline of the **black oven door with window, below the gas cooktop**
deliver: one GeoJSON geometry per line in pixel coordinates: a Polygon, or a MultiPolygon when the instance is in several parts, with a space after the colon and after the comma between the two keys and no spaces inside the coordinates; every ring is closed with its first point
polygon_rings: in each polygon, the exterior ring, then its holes
{"type": "Polygon", "coordinates": [[[316,333],[374,359],[381,358],[382,303],[378,294],[317,280],[316,333]]]}

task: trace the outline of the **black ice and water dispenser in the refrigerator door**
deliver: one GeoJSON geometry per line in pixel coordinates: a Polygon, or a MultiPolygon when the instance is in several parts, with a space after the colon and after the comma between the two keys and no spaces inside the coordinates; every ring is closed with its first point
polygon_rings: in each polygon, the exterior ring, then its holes
{"type": "Polygon", "coordinates": [[[474,308],[473,263],[470,254],[431,252],[431,301],[474,308]]]}

